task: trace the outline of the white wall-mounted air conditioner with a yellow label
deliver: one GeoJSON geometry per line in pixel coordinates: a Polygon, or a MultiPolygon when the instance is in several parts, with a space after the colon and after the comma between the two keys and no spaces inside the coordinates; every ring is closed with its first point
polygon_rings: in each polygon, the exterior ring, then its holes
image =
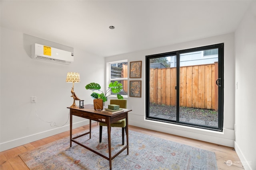
{"type": "Polygon", "coordinates": [[[70,64],[74,61],[74,53],[35,43],[31,45],[31,58],[70,64]]]}

